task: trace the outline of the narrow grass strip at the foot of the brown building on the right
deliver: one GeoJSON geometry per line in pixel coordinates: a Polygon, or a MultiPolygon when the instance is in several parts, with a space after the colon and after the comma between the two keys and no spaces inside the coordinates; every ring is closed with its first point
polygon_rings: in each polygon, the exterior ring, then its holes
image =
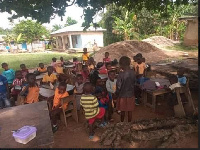
{"type": "Polygon", "coordinates": [[[198,47],[197,46],[185,46],[182,43],[176,44],[174,46],[167,46],[166,48],[170,49],[170,50],[178,50],[178,51],[185,51],[185,52],[198,51],[198,47]]]}

